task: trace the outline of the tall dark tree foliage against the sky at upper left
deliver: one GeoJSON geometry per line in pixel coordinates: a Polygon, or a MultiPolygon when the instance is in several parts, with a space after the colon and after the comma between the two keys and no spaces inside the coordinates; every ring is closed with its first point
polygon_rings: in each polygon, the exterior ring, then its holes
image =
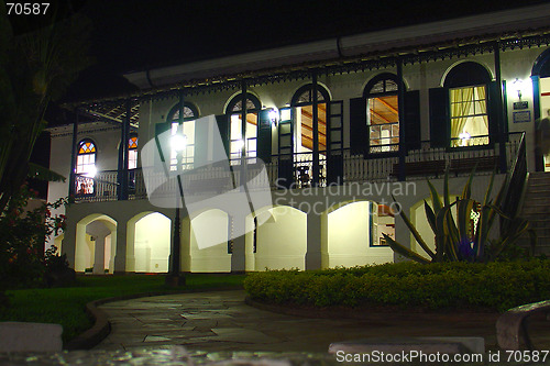
{"type": "Polygon", "coordinates": [[[0,4],[0,211],[30,173],[44,176],[46,171],[30,167],[29,158],[46,125],[50,101],[63,96],[90,64],[88,34],[88,22],[70,16],[14,35],[6,5],[0,4]]]}

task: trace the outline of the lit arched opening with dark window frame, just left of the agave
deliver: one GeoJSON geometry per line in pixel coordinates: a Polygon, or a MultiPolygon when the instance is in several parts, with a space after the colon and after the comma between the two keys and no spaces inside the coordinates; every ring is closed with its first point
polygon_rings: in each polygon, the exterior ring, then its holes
{"type": "Polygon", "coordinates": [[[321,217],[321,267],[353,267],[392,262],[382,232],[392,234],[393,214],[371,201],[342,202],[321,217]]]}

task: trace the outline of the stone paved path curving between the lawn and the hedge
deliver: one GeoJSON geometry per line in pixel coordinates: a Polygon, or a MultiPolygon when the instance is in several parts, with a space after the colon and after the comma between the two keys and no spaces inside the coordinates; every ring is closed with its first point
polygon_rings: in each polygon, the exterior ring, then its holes
{"type": "MultiPolygon", "coordinates": [[[[257,310],[244,291],[182,293],[101,306],[111,334],[96,348],[132,350],[185,345],[202,351],[324,353],[332,342],[392,336],[483,336],[496,347],[494,314],[414,319],[384,314],[375,320],[305,319],[257,310]]],[[[548,350],[548,348],[547,348],[548,350]]]]}

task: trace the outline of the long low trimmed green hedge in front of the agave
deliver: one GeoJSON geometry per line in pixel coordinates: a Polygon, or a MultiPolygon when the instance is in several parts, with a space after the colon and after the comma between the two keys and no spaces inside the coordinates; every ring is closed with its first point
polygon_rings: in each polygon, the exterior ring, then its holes
{"type": "Polygon", "coordinates": [[[509,308],[550,299],[550,262],[396,263],[246,276],[254,300],[308,307],[509,308]]]}

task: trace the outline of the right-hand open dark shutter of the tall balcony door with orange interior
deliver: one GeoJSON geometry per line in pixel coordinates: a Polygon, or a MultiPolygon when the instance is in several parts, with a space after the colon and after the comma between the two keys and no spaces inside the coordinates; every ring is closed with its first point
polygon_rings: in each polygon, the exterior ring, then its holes
{"type": "Polygon", "coordinates": [[[343,178],[343,101],[328,103],[327,184],[342,184],[343,178]]]}

